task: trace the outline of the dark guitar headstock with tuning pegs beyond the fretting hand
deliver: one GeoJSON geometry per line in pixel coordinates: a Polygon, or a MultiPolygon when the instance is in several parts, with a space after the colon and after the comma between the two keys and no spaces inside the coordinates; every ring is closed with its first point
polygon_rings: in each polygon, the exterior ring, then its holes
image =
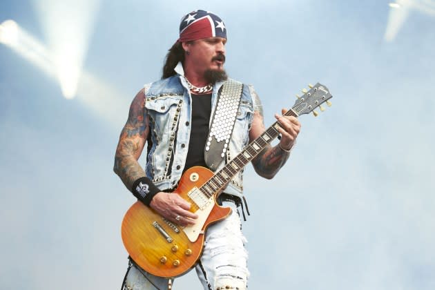
{"type": "Polygon", "coordinates": [[[304,95],[296,95],[298,100],[296,100],[291,109],[298,116],[313,112],[313,115],[317,117],[318,113],[314,109],[320,107],[320,110],[324,111],[325,108],[320,105],[325,102],[328,106],[331,106],[331,102],[328,100],[331,99],[332,95],[329,93],[328,88],[320,83],[317,83],[314,86],[309,84],[308,86],[309,90],[306,88],[302,89],[304,95]]]}

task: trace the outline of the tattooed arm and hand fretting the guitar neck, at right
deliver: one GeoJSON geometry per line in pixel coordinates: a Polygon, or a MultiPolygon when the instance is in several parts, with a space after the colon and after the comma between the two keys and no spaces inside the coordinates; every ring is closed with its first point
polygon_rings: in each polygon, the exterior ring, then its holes
{"type": "MultiPolygon", "coordinates": [[[[253,92],[253,97],[257,105],[254,108],[251,130],[249,131],[250,142],[265,131],[260,99],[255,92],[253,92]]],[[[290,152],[288,151],[293,147],[300,131],[298,119],[296,119],[296,117],[283,116],[286,112],[287,110],[282,109],[282,115],[275,115],[278,122],[282,125],[282,128],[278,128],[278,131],[281,133],[280,144],[275,147],[272,147],[270,144],[267,145],[266,148],[252,160],[255,172],[267,179],[273,178],[287,159],[289,159],[290,152]]]]}

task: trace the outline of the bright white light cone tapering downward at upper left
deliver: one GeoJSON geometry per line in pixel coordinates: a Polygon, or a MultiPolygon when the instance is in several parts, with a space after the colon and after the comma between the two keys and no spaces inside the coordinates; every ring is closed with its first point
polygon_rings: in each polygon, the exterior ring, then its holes
{"type": "Polygon", "coordinates": [[[32,0],[66,99],[77,94],[101,0],[32,0]]]}

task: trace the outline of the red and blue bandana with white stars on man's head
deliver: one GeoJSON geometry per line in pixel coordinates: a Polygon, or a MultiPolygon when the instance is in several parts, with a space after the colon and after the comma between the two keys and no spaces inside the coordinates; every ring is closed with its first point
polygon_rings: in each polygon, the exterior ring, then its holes
{"type": "Polygon", "coordinates": [[[226,39],[225,24],[218,15],[209,11],[196,10],[186,14],[182,18],[178,42],[208,37],[222,37],[226,39]]]}

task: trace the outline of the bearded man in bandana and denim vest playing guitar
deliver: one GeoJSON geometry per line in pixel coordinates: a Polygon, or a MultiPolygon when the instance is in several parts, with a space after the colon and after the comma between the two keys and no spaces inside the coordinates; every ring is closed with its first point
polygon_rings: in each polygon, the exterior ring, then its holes
{"type": "MultiPolygon", "coordinates": [[[[180,23],[180,38],[166,56],[162,79],[146,85],[133,99],[128,121],[119,137],[115,173],[141,202],[181,226],[194,224],[197,219],[197,215],[189,211],[189,202],[170,193],[182,173],[197,165],[215,171],[222,168],[265,130],[260,99],[252,86],[226,77],[225,44],[226,27],[220,17],[204,10],[186,14],[180,23]],[[220,90],[224,90],[224,85],[230,81],[240,88],[241,93],[234,96],[238,106],[217,106],[220,90]],[[219,142],[224,146],[218,148],[216,155],[212,147],[218,145],[211,143],[213,134],[218,138],[220,133],[213,128],[220,126],[221,121],[212,116],[218,112],[222,116],[233,112],[236,117],[222,118],[226,122],[224,128],[230,134],[224,134],[225,142],[219,142]],[[137,160],[146,143],[148,152],[144,170],[137,160]],[[215,157],[218,162],[211,164],[209,160],[216,160],[215,157]]],[[[219,104],[225,103],[219,99],[219,104]]],[[[275,147],[267,145],[252,160],[255,171],[268,179],[287,161],[300,131],[300,123],[295,117],[277,114],[276,119],[281,124],[279,144],[275,147]]],[[[196,266],[204,289],[247,287],[246,240],[238,216],[241,197],[240,172],[218,197],[218,202],[232,207],[231,215],[206,231],[204,251],[196,266]]],[[[168,287],[167,279],[152,276],[139,269],[134,261],[132,263],[133,267],[128,268],[124,279],[124,289],[168,287]]]]}

